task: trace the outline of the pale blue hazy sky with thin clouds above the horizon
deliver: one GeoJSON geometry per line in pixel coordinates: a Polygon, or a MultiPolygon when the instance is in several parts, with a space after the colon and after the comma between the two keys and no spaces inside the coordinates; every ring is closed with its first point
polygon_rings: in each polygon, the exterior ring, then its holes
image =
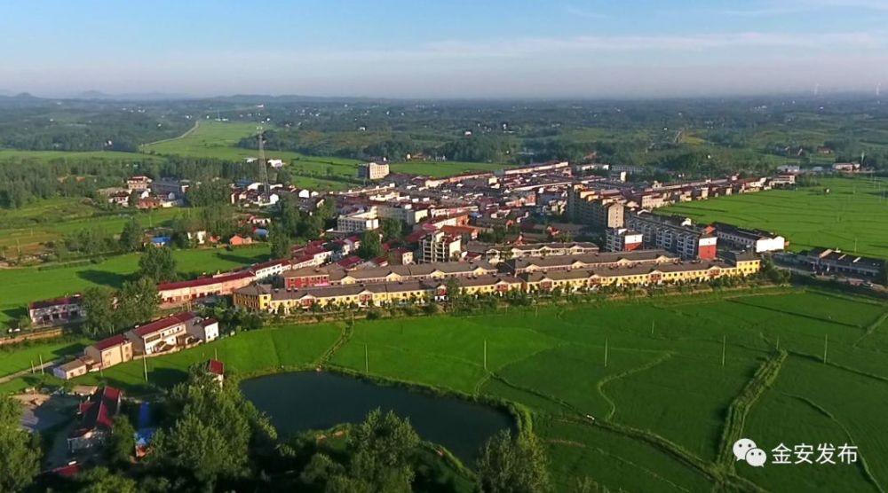
{"type": "Polygon", "coordinates": [[[0,91],[623,98],[888,90],[888,0],[4,0],[0,91]]]}

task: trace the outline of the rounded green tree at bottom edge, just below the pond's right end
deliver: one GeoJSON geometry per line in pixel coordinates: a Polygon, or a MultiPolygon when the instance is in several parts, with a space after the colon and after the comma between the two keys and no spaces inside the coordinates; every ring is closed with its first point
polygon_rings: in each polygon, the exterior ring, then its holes
{"type": "Polygon", "coordinates": [[[480,450],[476,467],[484,493],[540,493],[551,490],[546,455],[534,434],[511,432],[492,436],[480,450]]]}

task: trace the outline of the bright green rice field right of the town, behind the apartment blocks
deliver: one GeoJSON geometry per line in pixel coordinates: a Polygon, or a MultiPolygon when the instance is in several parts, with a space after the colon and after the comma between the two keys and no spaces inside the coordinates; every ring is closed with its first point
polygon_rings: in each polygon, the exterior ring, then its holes
{"type": "Polygon", "coordinates": [[[695,222],[774,231],[793,251],[811,247],[888,257],[888,180],[821,178],[816,187],[746,193],[667,207],[695,222]],[[829,194],[824,192],[829,188],[829,194]]]}

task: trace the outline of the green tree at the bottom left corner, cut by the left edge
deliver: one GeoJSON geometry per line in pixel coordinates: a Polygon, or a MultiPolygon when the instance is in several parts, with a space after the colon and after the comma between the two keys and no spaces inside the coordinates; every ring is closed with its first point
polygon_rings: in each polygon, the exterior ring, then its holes
{"type": "Polygon", "coordinates": [[[40,447],[21,429],[21,405],[0,395],[0,491],[20,491],[40,472],[40,447]]]}

